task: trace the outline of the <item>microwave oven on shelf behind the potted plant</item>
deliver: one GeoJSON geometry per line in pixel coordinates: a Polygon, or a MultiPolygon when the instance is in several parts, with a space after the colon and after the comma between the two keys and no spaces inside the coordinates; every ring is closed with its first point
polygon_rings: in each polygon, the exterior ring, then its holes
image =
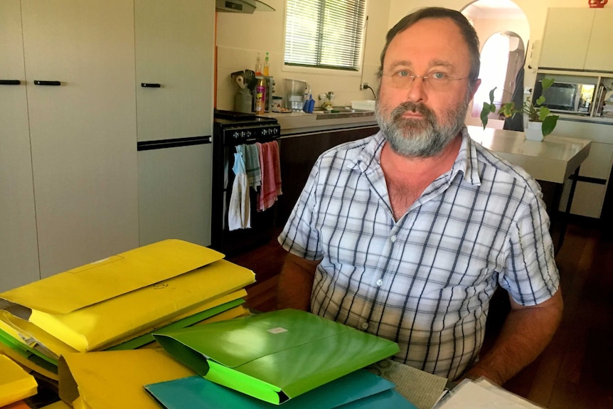
{"type": "Polygon", "coordinates": [[[552,112],[564,112],[567,114],[589,114],[594,99],[596,85],[581,83],[553,83],[543,94],[543,82],[537,81],[534,86],[532,101],[543,95],[545,107],[552,112]]]}

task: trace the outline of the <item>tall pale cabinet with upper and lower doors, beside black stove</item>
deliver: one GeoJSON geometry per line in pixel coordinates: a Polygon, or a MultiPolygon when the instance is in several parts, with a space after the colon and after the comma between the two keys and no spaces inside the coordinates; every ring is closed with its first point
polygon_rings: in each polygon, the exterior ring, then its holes
{"type": "Polygon", "coordinates": [[[210,245],[213,2],[135,0],[134,25],[139,244],[210,245]]]}

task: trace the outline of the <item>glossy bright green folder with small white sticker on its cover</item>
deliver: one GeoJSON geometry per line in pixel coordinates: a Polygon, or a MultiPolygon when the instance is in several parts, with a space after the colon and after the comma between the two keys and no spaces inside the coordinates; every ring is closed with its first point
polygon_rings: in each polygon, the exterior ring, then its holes
{"type": "Polygon", "coordinates": [[[154,338],[209,381],[277,405],[399,351],[393,341],[296,309],[154,338]]]}

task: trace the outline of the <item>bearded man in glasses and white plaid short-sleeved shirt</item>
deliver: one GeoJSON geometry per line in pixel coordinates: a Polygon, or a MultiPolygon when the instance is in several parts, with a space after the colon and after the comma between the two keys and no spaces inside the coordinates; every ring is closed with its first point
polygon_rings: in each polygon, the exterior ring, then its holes
{"type": "Polygon", "coordinates": [[[388,33],[380,132],[322,154],[279,243],[279,308],[310,309],[400,345],[395,360],[502,384],[533,361],[562,297],[538,184],[471,141],[479,40],[457,11],[422,9],[388,33]],[[478,358],[496,287],[511,300],[478,358]]]}

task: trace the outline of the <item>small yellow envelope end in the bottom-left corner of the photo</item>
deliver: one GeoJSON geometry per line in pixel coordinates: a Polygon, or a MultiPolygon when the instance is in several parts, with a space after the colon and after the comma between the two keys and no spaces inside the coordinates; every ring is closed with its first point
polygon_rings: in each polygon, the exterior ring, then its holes
{"type": "Polygon", "coordinates": [[[36,379],[8,356],[0,354],[0,406],[36,395],[36,379]]]}

